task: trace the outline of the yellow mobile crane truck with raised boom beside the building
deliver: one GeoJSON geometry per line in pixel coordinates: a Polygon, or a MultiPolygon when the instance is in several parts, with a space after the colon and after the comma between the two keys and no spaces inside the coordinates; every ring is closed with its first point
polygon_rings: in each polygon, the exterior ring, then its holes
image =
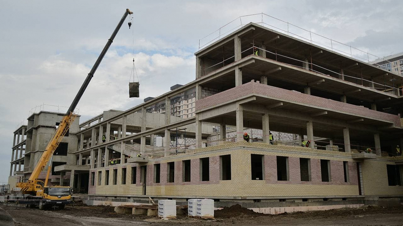
{"type": "MultiPolygon", "coordinates": [[[[110,45],[116,34],[118,33],[120,27],[125,21],[127,15],[133,14],[129,9],[126,9],[125,14],[122,19],[120,19],[118,25],[113,31],[112,35],[108,39],[104,49],[102,50],[100,56],[96,60],[95,64],[91,68],[91,71],[88,73],[87,78],[85,79],[83,85],[79,89],[77,95],[75,96],[69,110],[67,110],[66,114],[63,116],[56,132],[54,133],[52,139],[49,141],[48,145],[44,153],[42,153],[39,162],[36,164],[34,170],[32,171],[31,176],[27,180],[27,182],[17,182],[15,187],[15,191],[21,191],[24,194],[24,199],[20,200],[19,203],[29,205],[29,207],[34,207],[35,205],[39,206],[39,209],[44,209],[48,206],[58,206],[60,209],[64,209],[66,204],[71,203],[71,192],[72,189],[70,187],[62,187],[62,186],[48,186],[48,178],[50,173],[50,166],[48,167],[48,172],[46,175],[45,182],[42,180],[38,180],[39,174],[44,170],[49,160],[53,156],[54,151],[58,147],[60,141],[69,130],[71,123],[74,121],[77,116],[74,114],[74,109],[76,108],[81,96],[83,95],[85,89],[87,88],[89,82],[91,81],[95,71],[97,70],[99,64],[104,58],[106,52],[108,51],[110,45]],[[25,196],[26,195],[26,196],[25,196]]],[[[129,28],[131,23],[129,22],[129,28]]]]}

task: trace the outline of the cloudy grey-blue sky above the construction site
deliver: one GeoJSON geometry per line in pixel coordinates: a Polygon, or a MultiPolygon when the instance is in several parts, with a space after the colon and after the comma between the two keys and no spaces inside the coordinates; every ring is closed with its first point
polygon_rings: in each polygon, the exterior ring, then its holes
{"type": "MultiPolygon", "coordinates": [[[[263,12],[375,56],[403,52],[400,0],[0,0],[0,4],[0,183],[8,180],[16,127],[26,123],[35,106],[70,106],[126,8],[134,12],[132,27],[128,29],[126,20],[81,98],[77,106],[81,122],[104,110],[127,110],[172,85],[193,81],[199,39],[213,33],[200,43],[211,41],[218,36],[214,31],[242,15],[263,12]],[[133,58],[138,75],[134,80],[133,58]],[[129,81],[140,82],[139,98],[129,98],[129,81]]],[[[266,15],[265,23],[284,28],[284,22],[266,15]]],[[[218,32],[248,22],[261,22],[261,15],[241,17],[218,32]]]]}

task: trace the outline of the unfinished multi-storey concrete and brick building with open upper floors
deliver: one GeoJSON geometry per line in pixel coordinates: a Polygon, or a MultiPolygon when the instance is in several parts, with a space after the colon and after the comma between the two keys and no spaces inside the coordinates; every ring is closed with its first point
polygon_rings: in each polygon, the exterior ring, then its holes
{"type": "MultiPolygon", "coordinates": [[[[210,198],[263,212],[401,202],[401,75],[255,23],[195,56],[194,81],[71,129],[60,184],[108,201],[210,198]]],[[[28,142],[32,128],[15,133],[28,142]]],[[[27,153],[11,167],[34,164],[27,153]]]]}

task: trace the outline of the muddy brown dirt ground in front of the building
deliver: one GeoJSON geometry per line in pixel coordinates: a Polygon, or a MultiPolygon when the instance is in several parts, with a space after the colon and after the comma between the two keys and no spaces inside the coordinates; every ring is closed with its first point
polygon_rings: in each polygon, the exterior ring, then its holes
{"type": "Polygon", "coordinates": [[[160,220],[157,217],[116,214],[114,207],[71,205],[64,210],[40,211],[21,205],[0,205],[14,219],[16,226],[125,226],[125,225],[314,225],[314,226],[368,226],[403,225],[403,206],[382,208],[366,206],[358,209],[333,209],[325,211],[296,212],[292,214],[258,214],[241,206],[232,206],[215,211],[216,220],[200,220],[178,216],[177,219],[160,220]]]}

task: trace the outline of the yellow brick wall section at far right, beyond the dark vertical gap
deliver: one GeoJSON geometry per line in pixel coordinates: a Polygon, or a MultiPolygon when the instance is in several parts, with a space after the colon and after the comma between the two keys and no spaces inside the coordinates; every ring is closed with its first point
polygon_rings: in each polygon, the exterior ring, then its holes
{"type": "MultiPolygon", "coordinates": [[[[384,159],[384,158],[380,158],[384,159]]],[[[394,162],[365,160],[361,164],[364,195],[403,195],[402,186],[389,186],[386,164],[394,162]]]]}

